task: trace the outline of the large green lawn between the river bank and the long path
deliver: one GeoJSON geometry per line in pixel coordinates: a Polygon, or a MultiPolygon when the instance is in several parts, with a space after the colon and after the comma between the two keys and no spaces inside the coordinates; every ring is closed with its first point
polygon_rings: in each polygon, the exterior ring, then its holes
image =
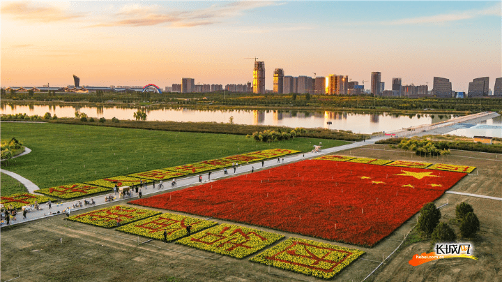
{"type": "Polygon", "coordinates": [[[66,124],[1,124],[2,140],[17,138],[31,153],[2,168],[40,188],[91,181],[173,165],[182,165],[260,149],[312,150],[348,142],[296,138],[270,144],[244,135],[149,131],[66,124]]]}

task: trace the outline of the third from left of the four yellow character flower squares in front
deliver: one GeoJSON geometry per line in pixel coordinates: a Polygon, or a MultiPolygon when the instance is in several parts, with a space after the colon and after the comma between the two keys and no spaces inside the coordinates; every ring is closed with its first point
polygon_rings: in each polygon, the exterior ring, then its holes
{"type": "Polygon", "coordinates": [[[284,236],[238,225],[221,224],[176,241],[176,244],[245,258],[284,236]]]}

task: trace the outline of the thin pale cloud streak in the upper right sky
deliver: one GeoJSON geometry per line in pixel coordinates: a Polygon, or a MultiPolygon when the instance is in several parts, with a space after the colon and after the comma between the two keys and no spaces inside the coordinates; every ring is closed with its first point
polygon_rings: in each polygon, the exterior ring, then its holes
{"type": "Polygon", "coordinates": [[[407,19],[393,20],[389,22],[381,22],[381,24],[400,25],[400,24],[435,24],[439,22],[456,22],[459,20],[469,20],[474,17],[485,15],[502,16],[501,3],[496,3],[494,6],[484,10],[468,10],[464,12],[431,15],[425,17],[411,17],[407,19]]]}

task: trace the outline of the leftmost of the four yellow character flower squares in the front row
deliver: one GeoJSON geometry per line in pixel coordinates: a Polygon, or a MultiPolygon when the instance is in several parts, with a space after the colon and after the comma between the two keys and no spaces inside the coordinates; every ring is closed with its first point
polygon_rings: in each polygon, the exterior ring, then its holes
{"type": "Polygon", "coordinates": [[[121,225],[139,221],[140,219],[148,218],[160,214],[159,211],[151,211],[149,209],[138,209],[128,206],[113,206],[96,211],[89,211],[85,214],[70,216],[67,219],[81,223],[96,225],[104,228],[116,227],[116,220],[121,219],[121,225]]]}

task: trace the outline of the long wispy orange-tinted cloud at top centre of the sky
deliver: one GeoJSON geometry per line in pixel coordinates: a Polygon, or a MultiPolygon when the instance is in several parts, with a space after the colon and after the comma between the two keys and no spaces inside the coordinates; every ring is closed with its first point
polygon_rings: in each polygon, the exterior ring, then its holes
{"type": "Polygon", "coordinates": [[[167,25],[169,27],[197,27],[218,24],[229,17],[243,15],[246,10],[266,6],[277,6],[282,3],[274,1],[239,1],[214,4],[208,8],[197,10],[165,10],[159,5],[142,5],[128,3],[119,12],[112,15],[111,22],[102,22],[90,27],[146,27],[167,25]]]}

